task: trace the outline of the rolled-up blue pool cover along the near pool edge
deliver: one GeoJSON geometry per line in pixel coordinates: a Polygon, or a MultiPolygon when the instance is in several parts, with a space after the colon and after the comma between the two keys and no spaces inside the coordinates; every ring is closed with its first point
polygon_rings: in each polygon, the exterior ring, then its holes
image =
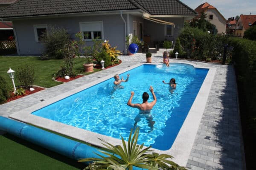
{"type": "MultiPolygon", "coordinates": [[[[105,156],[95,147],[3,116],[0,116],[0,130],[75,160],[82,158],[100,158],[95,153],[105,156]]],[[[133,167],[133,169],[143,170],[139,167],[133,167]]]]}

